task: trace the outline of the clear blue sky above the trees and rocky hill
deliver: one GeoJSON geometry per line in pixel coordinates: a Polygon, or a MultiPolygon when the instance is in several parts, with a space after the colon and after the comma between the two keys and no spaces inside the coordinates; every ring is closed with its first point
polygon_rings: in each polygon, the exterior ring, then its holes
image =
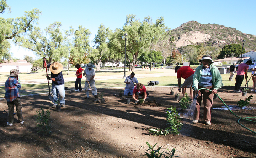
{"type": "MultiPolygon", "coordinates": [[[[143,20],[150,16],[164,17],[164,23],[171,29],[194,20],[202,24],[215,23],[226,27],[233,27],[246,34],[256,35],[256,21],[253,9],[255,0],[7,0],[11,13],[1,14],[4,18],[23,16],[24,11],[38,8],[42,14],[39,18],[39,27],[46,28],[54,21],[62,23],[62,29],[73,26],[78,29],[82,25],[91,31],[90,39],[94,39],[98,27],[103,23],[111,30],[122,28],[125,17],[135,14],[143,20]]],[[[245,44],[246,46],[246,44],[245,44]]],[[[16,58],[30,55],[37,59],[32,51],[12,46],[11,51],[16,58]]]]}

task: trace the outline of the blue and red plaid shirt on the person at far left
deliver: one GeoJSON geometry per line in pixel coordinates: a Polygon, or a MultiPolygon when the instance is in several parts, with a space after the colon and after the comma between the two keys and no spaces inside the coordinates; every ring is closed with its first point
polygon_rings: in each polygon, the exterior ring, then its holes
{"type": "Polygon", "coordinates": [[[20,97],[20,94],[18,93],[18,88],[21,88],[18,80],[11,76],[8,77],[5,82],[5,99],[7,100],[7,102],[12,102],[14,101],[14,99],[20,97]]]}

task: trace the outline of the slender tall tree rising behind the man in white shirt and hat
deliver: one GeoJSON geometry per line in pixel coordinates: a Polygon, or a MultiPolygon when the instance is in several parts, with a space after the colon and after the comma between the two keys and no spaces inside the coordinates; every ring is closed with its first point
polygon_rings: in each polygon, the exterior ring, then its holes
{"type": "Polygon", "coordinates": [[[106,59],[110,57],[107,39],[112,33],[112,31],[109,28],[106,28],[103,24],[101,24],[98,28],[98,33],[95,35],[93,40],[94,47],[96,47],[96,49],[93,49],[89,54],[90,60],[96,66],[96,71],[100,71],[102,61],[106,61],[106,59]]]}

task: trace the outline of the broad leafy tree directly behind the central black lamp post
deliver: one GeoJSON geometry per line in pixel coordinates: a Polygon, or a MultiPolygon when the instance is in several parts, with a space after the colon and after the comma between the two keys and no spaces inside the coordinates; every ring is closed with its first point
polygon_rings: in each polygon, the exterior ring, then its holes
{"type": "Polygon", "coordinates": [[[127,33],[126,59],[130,63],[129,71],[134,72],[134,66],[139,54],[150,50],[153,43],[159,41],[167,27],[164,19],[159,17],[153,23],[151,17],[145,17],[143,21],[135,15],[127,15],[126,23],[122,29],[116,29],[110,37],[109,48],[112,52],[124,54],[124,33],[127,33]],[[129,58],[130,56],[130,58],[129,58]]]}

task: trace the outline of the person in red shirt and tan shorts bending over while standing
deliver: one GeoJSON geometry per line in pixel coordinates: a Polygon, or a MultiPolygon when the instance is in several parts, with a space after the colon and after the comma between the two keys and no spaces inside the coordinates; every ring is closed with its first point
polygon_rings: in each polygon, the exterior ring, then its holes
{"type": "Polygon", "coordinates": [[[194,70],[191,69],[189,66],[182,66],[182,67],[176,66],[174,70],[175,70],[175,73],[177,73],[179,92],[181,92],[181,89],[182,89],[183,97],[185,97],[186,87],[190,86],[190,100],[192,101],[193,100],[192,85],[193,85],[194,70]],[[181,87],[181,78],[185,79],[182,87],[181,87]]]}

